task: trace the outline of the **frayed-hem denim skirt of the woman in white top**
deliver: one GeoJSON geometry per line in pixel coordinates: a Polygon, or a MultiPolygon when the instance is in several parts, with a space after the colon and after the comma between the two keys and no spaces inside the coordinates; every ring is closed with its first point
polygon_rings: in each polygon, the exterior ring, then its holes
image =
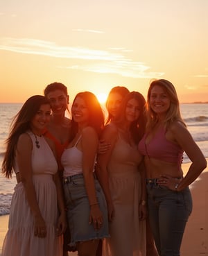
{"type": "Polygon", "coordinates": [[[67,204],[67,221],[71,233],[70,246],[76,246],[79,241],[110,237],[105,196],[96,178],[94,182],[98,204],[103,213],[103,225],[99,230],[94,229],[93,223],[89,224],[90,206],[83,173],[69,176],[63,180],[64,196],[67,204]]]}

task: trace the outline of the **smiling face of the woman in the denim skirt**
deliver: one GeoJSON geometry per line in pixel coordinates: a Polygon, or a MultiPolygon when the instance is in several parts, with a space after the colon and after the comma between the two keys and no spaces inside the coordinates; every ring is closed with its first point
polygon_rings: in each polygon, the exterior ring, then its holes
{"type": "Polygon", "coordinates": [[[71,106],[71,114],[73,121],[82,126],[86,126],[89,120],[89,110],[83,98],[77,96],[71,106]]]}

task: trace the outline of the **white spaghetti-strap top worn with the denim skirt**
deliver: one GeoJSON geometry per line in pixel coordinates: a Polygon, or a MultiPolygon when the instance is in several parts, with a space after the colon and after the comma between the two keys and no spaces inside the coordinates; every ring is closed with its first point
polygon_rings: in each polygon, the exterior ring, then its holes
{"type": "Polygon", "coordinates": [[[64,178],[83,173],[83,151],[80,151],[80,149],[76,147],[81,137],[82,135],[78,137],[78,140],[73,147],[66,148],[62,153],[61,164],[64,168],[64,178]]]}

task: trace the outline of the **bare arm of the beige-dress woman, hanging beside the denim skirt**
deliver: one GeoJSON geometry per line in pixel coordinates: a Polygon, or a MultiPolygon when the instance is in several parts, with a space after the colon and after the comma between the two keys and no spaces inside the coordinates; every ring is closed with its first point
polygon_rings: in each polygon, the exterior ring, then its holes
{"type": "Polygon", "coordinates": [[[98,180],[101,183],[101,187],[103,188],[103,192],[105,194],[105,198],[107,201],[107,210],[108,210],[108,218],[112,221],[114,217],[114,206],[112,203],[112,197],[110,194],[110,187],[109,187],[109,178],[107,172],[107,163],[110,160],[110,156],[112,154],[112,150],[114,148],[114,144],[116,142],[117,137],[117,129],[113,125],[108,125],[103,130],[102,139],[105,142],[111,142],[111,147],[107,150],[105,154],[99,154],[96,164],[96,174],[98,176],[98,180]]]}

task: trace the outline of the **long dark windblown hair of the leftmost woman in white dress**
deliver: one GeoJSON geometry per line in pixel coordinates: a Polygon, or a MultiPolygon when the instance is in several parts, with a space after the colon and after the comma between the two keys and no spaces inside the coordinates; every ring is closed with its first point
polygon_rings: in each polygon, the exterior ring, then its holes
{"type": "Polygon", "coordinates": [[[12,177],[12,168],[15,164],[15,151],[19,135],[31,129],[31,121],[42,105],[50,105],[49,100],[45,96],[31,96],[12,120],[10,134],[8,139],[6,139],[6,154],[2,163],[2,172],[7,178],[12,177]]]}

